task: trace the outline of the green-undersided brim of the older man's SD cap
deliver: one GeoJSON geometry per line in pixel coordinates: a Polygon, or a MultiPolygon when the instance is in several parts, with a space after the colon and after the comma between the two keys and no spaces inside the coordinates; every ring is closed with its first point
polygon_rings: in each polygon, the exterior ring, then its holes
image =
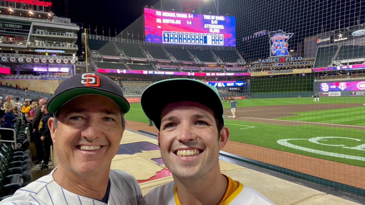
{"type": "Polygon", "coordinates": [[[48,111],[51,113],[55,113],[59,108],[61,108],[68,101],[72,100],[75,97],[84,95],[84,94],[97,94],[101,96],[105,96],[110,98],[115,102],[116,105],[120,108],[120,110],[125,114],[129,111],[129,103],[126,98],[119,96],[117,94],[113,94],[110,92],[106,92],[103,90],[97,90],[92,88],[73,88],[70,90],[66,90],[59,94],[58,96],[52,98],[48,103],[48,111]]]}

